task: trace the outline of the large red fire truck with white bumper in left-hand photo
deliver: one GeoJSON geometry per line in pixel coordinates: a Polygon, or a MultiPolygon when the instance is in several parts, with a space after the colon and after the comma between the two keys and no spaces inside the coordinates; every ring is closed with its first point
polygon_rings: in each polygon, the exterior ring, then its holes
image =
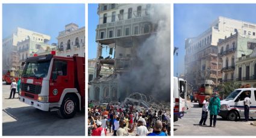
{"type": "Polygon", "coordinates": [[[52,52],[28,58],[23,64],[19,101],[44,111],[57,110],[61,118],[72,118],[84,109],[84,57],[52,52]]]}

